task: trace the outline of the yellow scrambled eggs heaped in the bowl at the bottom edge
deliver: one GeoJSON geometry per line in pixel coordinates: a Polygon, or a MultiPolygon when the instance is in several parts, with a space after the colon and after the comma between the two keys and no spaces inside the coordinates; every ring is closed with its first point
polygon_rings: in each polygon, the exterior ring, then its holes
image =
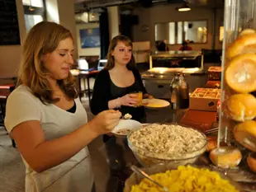
{"type": "MultiPolygon", "coordinates": [[[[192,166],[178,166],[178,170],[166,171],[151,176],[170,192],[239,192],[229,180],[221,179],[215,171],[198,169],[192,166]]],[[[149,180],[133,185],[131,192],[163,192],[149,180]]]]}

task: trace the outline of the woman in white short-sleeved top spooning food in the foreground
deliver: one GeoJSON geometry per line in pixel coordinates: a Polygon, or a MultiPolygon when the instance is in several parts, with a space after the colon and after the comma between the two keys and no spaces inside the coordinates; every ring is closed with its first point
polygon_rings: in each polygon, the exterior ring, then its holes
{"type": "Polygon", "coordinates": [[[88,122],[69,72],[73,38],[53,22],[34,26],[23,45],[18,84],[7,99],[5,125],[26,166],[26,192],[89,192],[87,145],[118,124],[105,110],[88,122]]]}

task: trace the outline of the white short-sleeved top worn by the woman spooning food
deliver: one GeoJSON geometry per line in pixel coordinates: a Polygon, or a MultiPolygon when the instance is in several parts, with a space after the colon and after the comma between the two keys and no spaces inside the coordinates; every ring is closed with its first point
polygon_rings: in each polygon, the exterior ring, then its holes
{"type": "MultiPolygon", "coordinates": [[[[74,101],[77,109],[70,113],[53,104],[44,105],[29,87],[21,85],[7,98],[7,131],[11,132],[22,122],[39,120],[46,140],[63,137],[88,121],[79,99],[74,101]]],[[[24,159],[23,162],[26,166],[26,192],[91,192],[93,174],[87,147],[68,161],[41,173],[33,171],[24,159]]]]}

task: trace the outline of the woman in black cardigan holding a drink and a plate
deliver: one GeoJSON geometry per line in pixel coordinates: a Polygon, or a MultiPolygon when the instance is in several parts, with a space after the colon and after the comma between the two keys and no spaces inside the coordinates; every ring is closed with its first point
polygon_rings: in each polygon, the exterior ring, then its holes
{"type": "Polygon", "coordinates": [[[122,115],[129,113],[132,119],[145,120],[144,106],[134,107],[137,97],[132,94],[142,91],[149,97],[139,71],[135,68],[132,42],[124,35],[111,40],[107,54],[107,65],[97,75],[94,84],[91,110],[97,115],[103,110],[120,109],[122,115]]]}

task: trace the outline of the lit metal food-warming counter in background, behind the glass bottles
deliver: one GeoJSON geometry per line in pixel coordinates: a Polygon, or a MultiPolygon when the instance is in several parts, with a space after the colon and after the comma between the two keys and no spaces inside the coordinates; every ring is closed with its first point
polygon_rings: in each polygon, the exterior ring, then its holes
{"type": "Polygon", "coordinates": [[[190,92],[204,87],[206,74],[201,51],[154,52],[149,57],[149,70],[141,74],[145,87],[157,98],[169,99],[169,85],[175,73],[183,73],[190,92]]]}

